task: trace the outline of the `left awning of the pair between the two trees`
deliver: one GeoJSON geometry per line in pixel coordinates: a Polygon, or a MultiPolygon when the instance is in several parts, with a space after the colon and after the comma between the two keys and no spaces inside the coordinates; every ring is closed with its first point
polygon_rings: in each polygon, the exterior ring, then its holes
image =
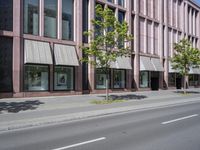
{"type": "Polygon", "coordinates": [[[140,56],[140,71],[156,71],[150,57],[140,56]]]}

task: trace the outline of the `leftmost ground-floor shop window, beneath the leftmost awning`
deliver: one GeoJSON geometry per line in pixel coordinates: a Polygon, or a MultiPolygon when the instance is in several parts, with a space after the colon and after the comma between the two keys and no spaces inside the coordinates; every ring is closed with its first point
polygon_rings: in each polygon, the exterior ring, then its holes
{"type": "Polygon", "coordinates": [[[25,90],[48,91],[49,67],[42,65],[25,65],[25,90]]]}

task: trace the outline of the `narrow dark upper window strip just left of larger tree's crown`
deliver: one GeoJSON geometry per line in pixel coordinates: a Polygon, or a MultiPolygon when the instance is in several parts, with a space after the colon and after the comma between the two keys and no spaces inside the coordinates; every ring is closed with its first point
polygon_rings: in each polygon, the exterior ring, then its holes
{"type": "MultiPolygon", "coordinates": [[[[83,33],[88,31],[88,6],[89,0],[83,0],[83,33]]],[[[88,43],[88,36],[83,35],[83,42],[88,43]]]]}

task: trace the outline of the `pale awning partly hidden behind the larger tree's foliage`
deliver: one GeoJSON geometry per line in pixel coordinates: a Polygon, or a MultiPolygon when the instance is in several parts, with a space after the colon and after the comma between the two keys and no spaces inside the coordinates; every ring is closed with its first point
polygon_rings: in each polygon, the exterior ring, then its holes
{"type": "Polygon", "coordinates": [[[117,57],[116,61],[111,63],[111,68],[114,69],[132,69],[130,57],[117,57]]]}

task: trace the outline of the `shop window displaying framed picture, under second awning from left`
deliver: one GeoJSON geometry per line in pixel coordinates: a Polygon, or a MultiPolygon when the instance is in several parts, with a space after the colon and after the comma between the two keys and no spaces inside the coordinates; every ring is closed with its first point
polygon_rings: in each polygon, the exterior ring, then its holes
{"type": "Polygon", "coordinates": [[[74,89],[74,68],[56,66],[54,72],[54,90],[74,89]]]}

